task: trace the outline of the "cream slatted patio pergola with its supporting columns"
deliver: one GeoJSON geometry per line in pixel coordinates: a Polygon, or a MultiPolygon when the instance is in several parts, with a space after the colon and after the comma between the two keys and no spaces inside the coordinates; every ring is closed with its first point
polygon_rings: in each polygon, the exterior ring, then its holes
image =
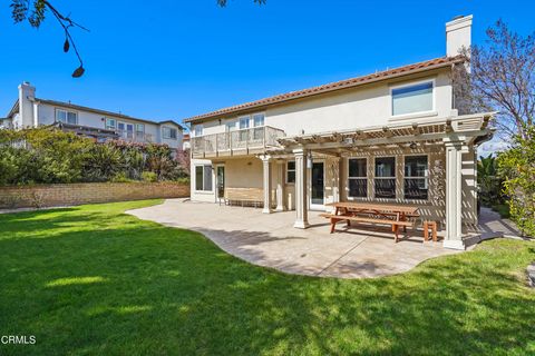
{"type": "MultiPolygon", "coordinates": [[[[341,157],[374,148],[426,147],[442,145],[446,151],[446,239],[445,246],[463,248],[461,241],[461,155],[469,145],[492,138],[488,122],[496,112],[465,115],[415,123],[356,128],[352,130],[279,138],[280,147],[259,156],[263,161],[264,212],[271,212],[270,162],[278,158],[295,160],[295,228],[307,228],[307,157],[309,152],[341,157]]],[[[282,181],[282,167],[279,168],[282,181]]],[[[276,187],[276,206],[282,208],[282,184],[276,187]],[[281,191],[279,191],[281,190],[281,191]]]]}

